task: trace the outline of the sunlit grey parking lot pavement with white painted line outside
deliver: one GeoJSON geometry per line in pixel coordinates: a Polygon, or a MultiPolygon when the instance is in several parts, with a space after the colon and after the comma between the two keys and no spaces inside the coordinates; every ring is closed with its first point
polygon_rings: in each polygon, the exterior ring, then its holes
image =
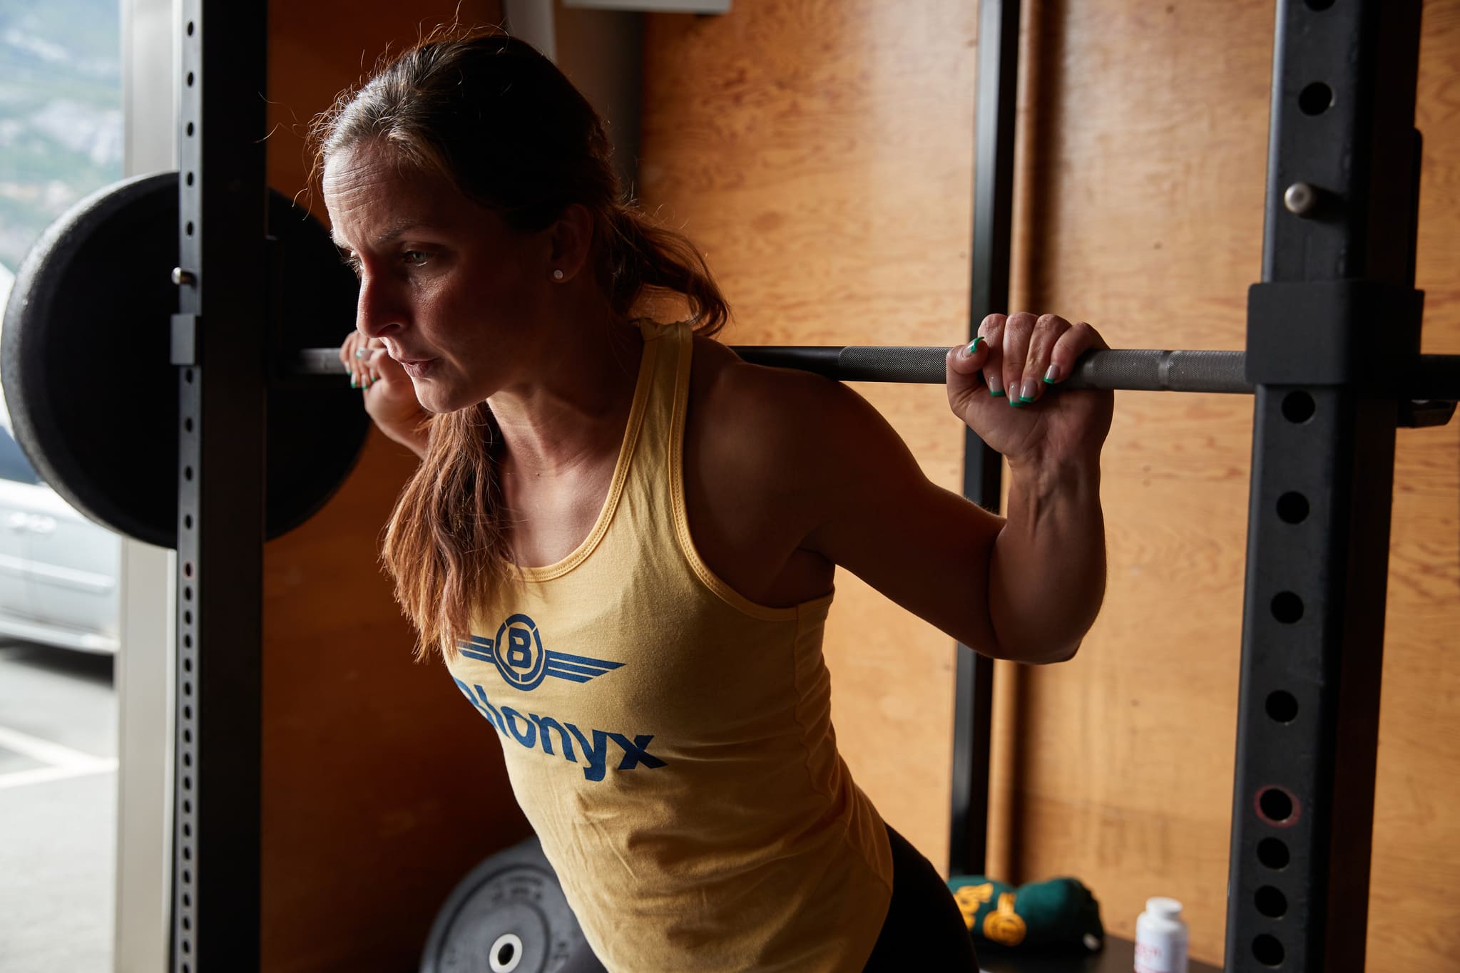
{"type": "Polygon", "coordinates": [[[0,642],[0,969],[111,970],[112,659],[0,642]]]}

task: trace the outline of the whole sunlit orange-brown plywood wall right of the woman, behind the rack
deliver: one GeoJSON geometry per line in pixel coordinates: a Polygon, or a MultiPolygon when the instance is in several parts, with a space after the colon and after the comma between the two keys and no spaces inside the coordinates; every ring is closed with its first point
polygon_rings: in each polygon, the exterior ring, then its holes
{"type": "MultiPolygon", "coordinates": [[[[708,252],[731,343],[936,344],[967,328],[977,4],[740,0],[645,38],[641,190],[708,252]]],[[[1015,309],[1113,346],[1235,349],[1260,276],[1272,0],[1025,3],[1015,309]]],[[[1460,3],[1425,3],[1425,349],[1460,350],[1460,3]]],[[[1383,340],[1375,334],[1375,340],[1383,340]]],[[[861,389],[959,481],[942,392],[861,389]]],[[[1121,394],[1110,595],[1080,655],[1000,665],[990,869],[1077,875],[1132,935],[1180,897],[1222,960],[1251,403],[1121,394]]],[[[869,512],[875,516],[876,512],[869,512]]],[[[1400,433],[1371,970],[1460,954],[1460,426],[1400,433]]],[[[856,581],[828,630],[858,782],[946,859],[952,646],[856,581]]]]}

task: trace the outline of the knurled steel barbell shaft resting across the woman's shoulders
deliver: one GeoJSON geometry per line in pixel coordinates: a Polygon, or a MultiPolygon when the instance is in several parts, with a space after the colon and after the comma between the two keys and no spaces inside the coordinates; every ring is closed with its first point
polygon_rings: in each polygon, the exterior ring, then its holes
{"type": "MultiPolygon", "coordinates": [[[[942,346],[737,346],[748,362],[816,372],[841,382],[942,384],[942,346]]],[[[1162,352],[1118,349],[1088,352],[1075,365],[1066,388],[1107,388],[1152,392],[1226,392],[1250,395],[1244,375],[1245,352],[1162,352]]],[[[336,349],[304,349],[295,373],[336,375],[343,372],[336,349]]],[[[1403,384],[1409,398],[1460,398],[1460,354],[1422,354],[1403,384]]]]}

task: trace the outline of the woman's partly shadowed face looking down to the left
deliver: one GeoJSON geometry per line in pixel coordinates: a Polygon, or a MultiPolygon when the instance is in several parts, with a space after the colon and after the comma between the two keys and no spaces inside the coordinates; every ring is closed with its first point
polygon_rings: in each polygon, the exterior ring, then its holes
{"type": "Polygon", "coordinates": [[[361,279],[356,327],[381,338],[420,404],[456,411],[531,376],[549,233],[518,233],[435,171],[356,144],[324,166],[334,242],[361,279]]]}

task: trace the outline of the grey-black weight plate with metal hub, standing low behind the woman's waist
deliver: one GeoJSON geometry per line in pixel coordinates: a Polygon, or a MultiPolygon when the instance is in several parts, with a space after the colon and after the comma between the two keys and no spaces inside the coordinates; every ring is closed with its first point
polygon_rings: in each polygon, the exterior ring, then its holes
{"type": "Polygon", "coordinates": [[[431,926],[420,973],[553,973],[584,942],[558,875],[530,837],[457,884],[431,926]]]}

